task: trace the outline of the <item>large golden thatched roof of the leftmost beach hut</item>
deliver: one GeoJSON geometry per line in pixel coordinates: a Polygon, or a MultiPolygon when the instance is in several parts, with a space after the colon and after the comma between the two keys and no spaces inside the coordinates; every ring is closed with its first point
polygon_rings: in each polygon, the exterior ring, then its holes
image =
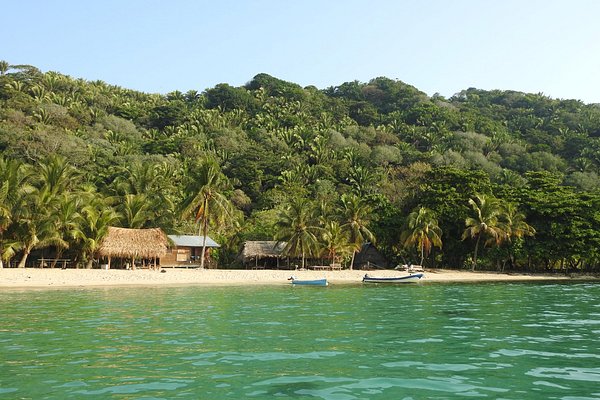
{"type": "Polygon", "coordinates": [[[167,254],[167,235],[160,229],[109,227],[98,254],[115,258],[159,258],[167,254]]]}

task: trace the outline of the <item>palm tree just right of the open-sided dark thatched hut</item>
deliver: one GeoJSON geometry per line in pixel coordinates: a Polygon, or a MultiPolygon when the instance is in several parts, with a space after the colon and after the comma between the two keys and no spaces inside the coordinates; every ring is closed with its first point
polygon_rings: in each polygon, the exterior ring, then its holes
{"type": "Polygon", "coordinates": [[[318,244],[316,235],[318,227],[313,210],[314,208],[308,200],[293,199],[279,214],[276,224],[275,239],[287,242],[283,249],[284,253],[302,258],[302,268],[304,268],[306,256],[315,254],[318,244]]]}

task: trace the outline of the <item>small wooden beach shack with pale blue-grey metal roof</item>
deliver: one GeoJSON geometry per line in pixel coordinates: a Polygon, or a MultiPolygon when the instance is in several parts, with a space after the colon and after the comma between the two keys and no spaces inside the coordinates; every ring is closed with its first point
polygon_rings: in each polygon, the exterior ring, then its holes
{"type": "MultiPolygon", "coordinates": [[[[171,245],[167,254],[161,258],[162,266],[189,267],[200,265],[202,256],[203,236],[194,235],[167,235],[171,245]]],[[[217,242],[206,236],[206,253],[211,249],[221,247],[217,242]]],[[[210,264],[209,264],[210,265],[210,264]]]]}

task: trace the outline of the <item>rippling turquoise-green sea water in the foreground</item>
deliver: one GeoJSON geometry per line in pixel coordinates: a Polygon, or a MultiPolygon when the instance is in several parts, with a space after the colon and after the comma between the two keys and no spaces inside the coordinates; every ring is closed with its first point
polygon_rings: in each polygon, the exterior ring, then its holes
{"type": "Polygon", "coordinates": [[[0,399],[600,399],[600,285],[0,292],[0,399]]]}

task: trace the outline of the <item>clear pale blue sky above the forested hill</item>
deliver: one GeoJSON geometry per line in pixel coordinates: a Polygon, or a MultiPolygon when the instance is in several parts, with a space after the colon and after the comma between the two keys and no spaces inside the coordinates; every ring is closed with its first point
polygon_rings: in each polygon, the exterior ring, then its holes
{"type": "Polygon", "coordinates": [[[600,103],[597,0],[0,0],[0,60],[148,93],[385,76],[600,103]]]}

